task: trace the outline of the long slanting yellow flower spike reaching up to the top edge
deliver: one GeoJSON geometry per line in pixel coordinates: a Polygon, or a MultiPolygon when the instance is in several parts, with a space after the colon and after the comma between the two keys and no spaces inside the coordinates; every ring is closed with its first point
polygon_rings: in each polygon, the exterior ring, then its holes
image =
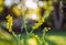
{"type": "Polygon", "coordinates": [[[53,11],[53,5],[51,0],[47,3],[45,2],[44,9],[45,9],[44,16],[41,20],[38,20],[38,23],[35,23],[35,25],[32,26],[33,30],[41,26],[45,22],[45,19],[48,18],[51,12],[53,11]]]}

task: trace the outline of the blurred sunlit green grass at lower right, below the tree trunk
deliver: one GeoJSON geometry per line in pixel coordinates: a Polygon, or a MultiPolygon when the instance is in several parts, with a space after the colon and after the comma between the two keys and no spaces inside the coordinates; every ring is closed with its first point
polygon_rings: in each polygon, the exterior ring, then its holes
{"type": "Polygon", "coordinates": [[[50,44],[66,45],[66,32],[50,32],[46,36],[50,44]]]}

